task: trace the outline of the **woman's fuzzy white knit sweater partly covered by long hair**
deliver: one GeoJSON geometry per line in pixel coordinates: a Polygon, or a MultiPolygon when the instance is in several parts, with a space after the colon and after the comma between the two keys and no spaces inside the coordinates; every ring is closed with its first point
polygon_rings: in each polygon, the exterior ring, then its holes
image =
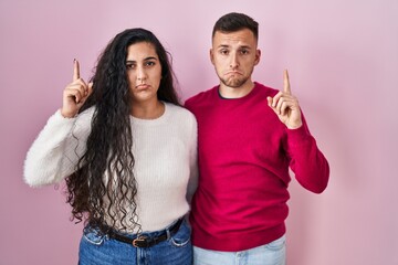
{"type": "MultiPolygon", "coordinates": [[[[185,215],[189,211],[186,198],[197,186],[196,119],[182,107],[168,103],[165,106],[164,115],[157,119],[130,117],[137,214],[143,231],[163,230],[185,215]]],[[[27,155],[28,184],[59,183],[73,173],[86,148],[94,108],[90,108],[75,118],[64,118],[57,110],[50,117],[27,155]]]]}

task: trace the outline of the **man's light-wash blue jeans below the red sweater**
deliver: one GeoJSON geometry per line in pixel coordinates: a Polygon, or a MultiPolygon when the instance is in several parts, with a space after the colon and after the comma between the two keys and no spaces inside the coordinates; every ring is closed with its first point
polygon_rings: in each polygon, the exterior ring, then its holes
{"type": "Polygon", "coordinates": [[[193,246],[195,265],[285,265],[285,235],[258,247],[241,252],[219,252],[193,246]]]}

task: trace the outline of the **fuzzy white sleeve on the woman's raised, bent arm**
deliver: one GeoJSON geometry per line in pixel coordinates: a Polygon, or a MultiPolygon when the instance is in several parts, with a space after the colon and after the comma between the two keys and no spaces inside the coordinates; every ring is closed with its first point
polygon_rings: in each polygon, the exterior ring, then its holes
{"type": "Polygon", "coordinates": [[[28,150],[24,181],[31,187],[61,182],[75,170],[86,148],[91,115],[64,118],[61,110],[52,115],[28,150]]]}

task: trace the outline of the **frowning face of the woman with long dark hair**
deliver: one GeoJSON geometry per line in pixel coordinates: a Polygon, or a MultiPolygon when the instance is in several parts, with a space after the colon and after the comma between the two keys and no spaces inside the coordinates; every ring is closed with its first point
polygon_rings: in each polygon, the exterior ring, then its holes
{"type": "Polygon", "coordinates": [[[157,102],[161,65],[155,46],[149,42],[129,45],[126,67],[133,100],[140,104],[157,102]]]}

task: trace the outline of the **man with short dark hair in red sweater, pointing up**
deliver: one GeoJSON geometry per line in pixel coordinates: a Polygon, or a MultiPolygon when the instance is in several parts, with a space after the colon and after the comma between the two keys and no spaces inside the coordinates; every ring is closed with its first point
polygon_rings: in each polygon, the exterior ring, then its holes
{"type": "Polygon", "coordinates": [[[327,186],[327,160],[287,72],[282,92],[252,81],[260,56],[258,22],[242,13],[221,17],[210,50],[220,84],[186,102],[198,120],[195,264],[285,264],[289,168],[312,192],[327,186]]]}

